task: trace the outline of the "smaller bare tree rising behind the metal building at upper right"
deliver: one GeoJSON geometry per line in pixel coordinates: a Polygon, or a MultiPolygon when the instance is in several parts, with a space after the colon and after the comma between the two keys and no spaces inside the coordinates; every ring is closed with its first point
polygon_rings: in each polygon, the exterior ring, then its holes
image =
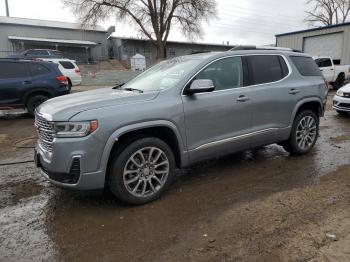
{"type": "Polygon", "coordinates": [[[305,21],[311,25],[340,24],[347,21],[350,12],[350,0],[308,0],[311,11],[306,11],[305,21]]]}

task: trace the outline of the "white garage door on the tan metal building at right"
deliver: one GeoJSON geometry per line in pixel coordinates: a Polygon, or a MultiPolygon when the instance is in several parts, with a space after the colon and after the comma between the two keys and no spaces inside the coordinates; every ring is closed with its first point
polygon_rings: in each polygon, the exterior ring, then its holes
{"type": "Polygon", "coordinates": [[[341,59],[343,51],[343,33],[320,35],[304,38],[304,52],[312,56],[330,56],[341,59]]]}

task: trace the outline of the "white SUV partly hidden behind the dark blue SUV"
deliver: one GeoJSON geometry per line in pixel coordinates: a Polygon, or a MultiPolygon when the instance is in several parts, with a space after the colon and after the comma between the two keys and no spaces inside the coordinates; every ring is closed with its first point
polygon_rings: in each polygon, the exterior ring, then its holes
{"type": "Polygon", "coordinates": [[[60,58],[45,58],[43,60],[58,65],[58,69],[67,77],[69,90],[71,90],[72,86],[81,84],[82,78],[80,69],[74,60],[60,58]]]}

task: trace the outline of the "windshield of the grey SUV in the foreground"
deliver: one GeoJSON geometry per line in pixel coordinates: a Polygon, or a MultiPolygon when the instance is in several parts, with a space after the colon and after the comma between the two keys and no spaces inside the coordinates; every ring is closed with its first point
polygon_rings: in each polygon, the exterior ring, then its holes
{"type": "Polygon", "coordinates": [[[175,86],[191,69],[199,65],[202,56],[177,57],[163,61],[123,85],[122,88],[143,92],[161,91],[175,86]]]}

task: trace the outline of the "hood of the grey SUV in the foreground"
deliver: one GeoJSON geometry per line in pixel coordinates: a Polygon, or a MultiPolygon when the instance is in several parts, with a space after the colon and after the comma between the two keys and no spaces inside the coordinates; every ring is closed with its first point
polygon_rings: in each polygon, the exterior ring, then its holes
{"type": "Polygon", "coordinates": [[[159,92],[139,93],[102,88],[56,97],[37,108],[37,112],[49,121],[68,121],[74,115],[102,107],[152,100],[159,92]]]}

